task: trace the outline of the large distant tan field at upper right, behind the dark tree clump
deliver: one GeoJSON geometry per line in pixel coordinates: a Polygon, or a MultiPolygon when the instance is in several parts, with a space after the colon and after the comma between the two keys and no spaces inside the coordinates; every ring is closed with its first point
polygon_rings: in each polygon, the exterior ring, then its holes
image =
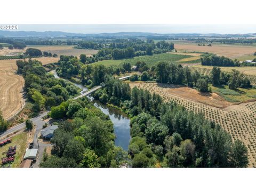
{"type": "MultiPolygon", "coordinates": [[[[198,46],[196,44],[175,44],[175,49],[178,51],[200,51],[215,53],[217,55],[223,55],[225,57],[233,58],[239,57],[246,54],[253,54],[255,47],[253,46],[241,46],[241,45],[215,45],[212,46],[198,46]]],[[[186,53],[187,54],[187,53],[186,53]]]]}

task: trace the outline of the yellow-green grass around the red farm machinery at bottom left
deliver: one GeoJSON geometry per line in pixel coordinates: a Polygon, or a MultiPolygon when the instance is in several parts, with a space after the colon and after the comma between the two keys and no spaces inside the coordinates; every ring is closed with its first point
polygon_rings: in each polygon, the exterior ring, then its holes
{"type": "MultiPolygon", "coordinates": [[[[2,159],[2,157],[5,157],[5,154],[3,155],[2,153],[4,151],[7,151],[10,146],[17,146],[15,159],[14,159],[14,162],[11,164],[11,167],[19,167],[26,151],[27,138],[28,138],[27,132],[22,132],[12,137],[11,143],[8,143],[7,145],[0,147],[0,159],[2,159]]],[[[6,165],[8,164],[5,164],[5,166],[6,165]]],[[[2,167],[2,165],[0,165],[0,167],[2,167]]]]}

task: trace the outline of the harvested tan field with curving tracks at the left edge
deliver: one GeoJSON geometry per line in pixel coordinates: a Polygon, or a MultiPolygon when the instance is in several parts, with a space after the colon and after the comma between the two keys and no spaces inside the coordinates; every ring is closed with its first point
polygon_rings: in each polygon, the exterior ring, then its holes
{"type": "Polygon", "coordinates": [[[25,100],[22,95],[24,79],[15,74],[17,66],[13,60],[0,60],[0,110],[3,117],[9,119],[18,113],[25,100]]]}

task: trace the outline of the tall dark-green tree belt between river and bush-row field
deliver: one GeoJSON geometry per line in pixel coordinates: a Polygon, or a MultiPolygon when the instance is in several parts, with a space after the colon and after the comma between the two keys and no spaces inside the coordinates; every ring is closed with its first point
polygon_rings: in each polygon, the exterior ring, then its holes
{"type": "Polygon", "coordinates": [[[107,77],[105,84],[104,89],[94,93],[95,99],[105,97],[105,103],[119,106],[133,117],[129,145],[133,167],[247,166],[244,144],[232,142],[220,125],[202,114],[187,111],[175,102],[164,103],[158,94],[137,87],[124,97],[126,83],[114,77],[107,77]],[[110,99],[113,95],[115,99],[110,99]]]}

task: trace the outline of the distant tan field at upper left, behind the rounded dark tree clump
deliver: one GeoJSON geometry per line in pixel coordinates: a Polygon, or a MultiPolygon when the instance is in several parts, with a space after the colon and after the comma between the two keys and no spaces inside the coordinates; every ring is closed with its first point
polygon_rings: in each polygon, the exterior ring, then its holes
{"type": "Polygon", "coordinates": [[[74,46],[69,45],[29,45],[27,48],[36,48],[46,52],[51,52],[52,54],[56,53],[58,56],[60,55],[74,55],[79,56],[81,54],[86,54],[90,56],[92,54],[98,53],[98,50],[86,50],[86,49],[74,49],[74,46]]]}

